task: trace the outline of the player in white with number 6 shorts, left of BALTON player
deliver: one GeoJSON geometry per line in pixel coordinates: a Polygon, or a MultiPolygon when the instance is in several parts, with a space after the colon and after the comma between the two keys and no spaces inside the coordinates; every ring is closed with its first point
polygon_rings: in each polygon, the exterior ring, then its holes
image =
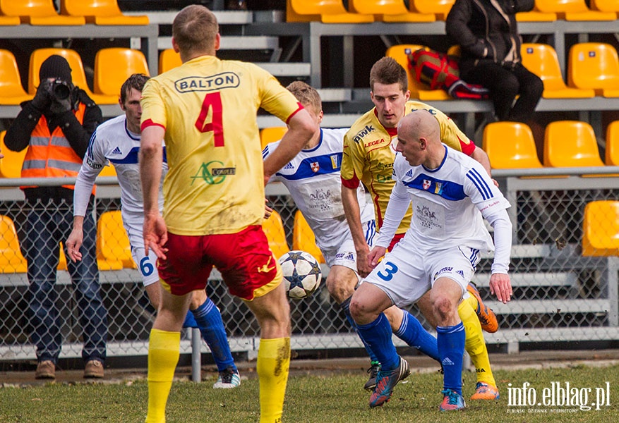
{"type": "MultiPolygon", "coordinates": [[[[99,125],[90,138],[83,164],[76,180],[73,201],[73,231],[66,245],[69,258],[75,262],[81,259],[79,247],[83,239],[81,223],[86,212],[90,192],[95,185],[95,179],[104,166],[114,164],[121,188],[121,215],[131,244],[131,255],[138,264],[142,282],[148,298],[155,309],[160,303],[160,283],[157,272],[157,256],[150,251],[145,255],[143,239],[143,195],[140,183],[138,152],[140,150],[140,96],[148,76],[131,75],[121,87],[119,105],[125,114],[112,118],[99,125]]],[[[160,184],[159,207],[163,209],[161,194],[164,176],[167,173],[167,162],[162,169],[160,184]]],[[[197,327],[217,364],[220,375],[213,385],[214,388],[234,388],[239,386],[241,379],[236,369],[232,353],[228,345],[226,330],[217,306],[207,298],[205,291],[196,291],[191,300],[191,311],[188,312],[185,327],[197,327]]]]}

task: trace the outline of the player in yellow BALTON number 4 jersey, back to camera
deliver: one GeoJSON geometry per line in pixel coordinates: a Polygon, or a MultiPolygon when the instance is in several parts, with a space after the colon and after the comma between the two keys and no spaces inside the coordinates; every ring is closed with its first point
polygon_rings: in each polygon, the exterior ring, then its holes
{"type": "Polygon", "coordinates": [[[208,8],[180,11],[172,24],[172,46],[183,64],[151,78],[141,100],[144,244],[146,254],[149,249],[157,254],[162,281],[148,348],[147,423],[165,422],[189,294],[205,288],[213,265],[260,324],[260,422],[282,419],[290,309],[281,268],[260,226],[264,185],[308,142],[315,123],[268,72],[217,59],[220,39],[208,8]],[[256,123],[260,107],[289,125],[264,163],[256,123]],[[169,166],[164,216],[157,206],[162,139],[169,166]]]}

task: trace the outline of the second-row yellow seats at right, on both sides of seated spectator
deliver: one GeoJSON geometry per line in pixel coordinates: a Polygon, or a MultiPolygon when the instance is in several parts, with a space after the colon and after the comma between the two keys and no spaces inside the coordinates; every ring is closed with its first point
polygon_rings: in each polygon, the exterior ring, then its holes
{"type": "MultiPolygon", "coordinates": [[[[389,47],[385,56],[392,57],[407,69],[412,98],[426,101],[452,99],[445,90],[429,90],[414,78],[409,69],[408,54],[417,49],[428,47],[419,44],[397,44],[389,47]]],[[[457,46],[450,49],[452,53],[458,51],[457,46]]],[[[543,81],[543,98],[619,97],[619,56],[611,44],[583,42],[570,47],[567,85],[553,47],[548,44],[523,43],[520,54],[522,64],[543,81]]]]}

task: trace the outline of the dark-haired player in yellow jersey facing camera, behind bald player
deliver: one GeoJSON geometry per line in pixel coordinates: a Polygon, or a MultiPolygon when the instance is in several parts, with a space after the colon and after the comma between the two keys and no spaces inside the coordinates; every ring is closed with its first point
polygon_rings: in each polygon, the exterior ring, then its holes
{"type": "MultiPolygon", "coordinates": [[[[366,185],[374,202],[376,226],[383,225],[383,216],[395,181],[392,180],[393,160],[395,159],[395,142],[397,142],[397,124],[413,110],[425,109],[438,121],[440,140],[446,145],[468,154],[479,161],[488,174],[490,161],[486,152],[476,148],[474,143],[462,133],[457,125],[443,112],[421,102],[410,101],[407,73],[402,66],[390,57],[383,57],[374,63],[370,71],[371,98],[375,107],[361,116],[344,136],[344,154],[342,157],[342,202],[357,252],[357,269],[361,276],[367,276],[372,268],[368,262],[369,248],[363,238],[359,206],[354,192],[359,183],[366,185]]],[[[410,226],[411,210],[407,212],[392,239],[390,250],[400,240],[410,226]]],[[[487,331],[498,329],[494,312],[481,302],[479,293],[469,285],[471,296],[458,307],[460,318],[467,332],[466,349],[476,367],[477,386],[471,399],[494,400],[499,398],[493,377],[486,343],[483,341],[481,324],[487,331]],[[476,317],[476,312],[479,316],[476,317]],[[480,324],[481,321],[481,324],[480,324]]],[[[435,326],[428,295],[417,302],[419,309],[428,322],[435,326]]],[[[402,324],[402,311],[395,306],[385,310],[392,329],[396,331],[402,324]]],[[[375,376],[380,364],[372,363],[375,376]]]]}

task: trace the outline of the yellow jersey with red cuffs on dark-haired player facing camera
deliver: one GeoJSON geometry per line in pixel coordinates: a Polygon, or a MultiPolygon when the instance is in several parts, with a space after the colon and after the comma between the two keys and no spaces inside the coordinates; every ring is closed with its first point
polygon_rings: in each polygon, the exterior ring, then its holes
{"type": "MultiPolygon", "coordinates": [[[[446,145],[473,154],[475,145],[462,133],[454,121],[442,111],[429,104],[409,101],[405,113],[425,109],[438,121],[440,140],[446,145]]],[[[392,180],[393,161],[395,159],[395,142],[397,129],[385,128],[378,121],[376,109],[368,111],[351,126],[344,135],[344,154],[342,155],[342,185],[356,189],[359,182],[366,185],[374,203],[376,225],[383,226],[383,216],[395,181],[392,180]]],[[[405,233],[411,223],[411,209],[399,224],[396,233],[405,233]]]]}

